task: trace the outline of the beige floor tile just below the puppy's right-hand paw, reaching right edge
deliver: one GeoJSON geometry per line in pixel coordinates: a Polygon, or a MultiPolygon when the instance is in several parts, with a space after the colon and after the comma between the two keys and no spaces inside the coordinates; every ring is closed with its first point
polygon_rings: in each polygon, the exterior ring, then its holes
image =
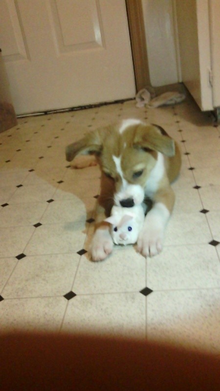
{"type": "Polygon", "coordinates": [[[209,244],[168,246],[147,260],[147,286],[153,290],[217,288],[220,262],[209,244]]]}

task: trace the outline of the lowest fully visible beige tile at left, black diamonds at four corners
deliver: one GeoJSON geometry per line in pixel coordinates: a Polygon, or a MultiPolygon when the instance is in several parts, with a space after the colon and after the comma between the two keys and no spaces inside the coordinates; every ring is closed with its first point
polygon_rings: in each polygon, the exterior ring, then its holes
{"type": "Polygon", "coordinates": [[[4,299],[64,296],[72,288],[79,259],[78,254],[26,256],[18,262],[2,296],[4,299]]]}

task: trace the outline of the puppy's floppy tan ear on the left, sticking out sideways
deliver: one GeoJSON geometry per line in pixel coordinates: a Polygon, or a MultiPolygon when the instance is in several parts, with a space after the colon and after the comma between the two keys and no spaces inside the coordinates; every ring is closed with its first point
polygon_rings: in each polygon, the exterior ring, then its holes
{"type": "Polygon", "coordinates": [[[81,140],[73,142],[66,147],[66,160],[72,161],[76,155],[99,154],[102,150],[101,132],[96,130],[88,133],[81,140]]]}

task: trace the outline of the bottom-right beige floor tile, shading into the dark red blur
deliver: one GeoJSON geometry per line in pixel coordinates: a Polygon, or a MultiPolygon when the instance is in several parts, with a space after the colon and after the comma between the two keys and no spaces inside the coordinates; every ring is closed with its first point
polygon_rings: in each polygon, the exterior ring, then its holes
{"type": "Polygon", "coordinates": [[[220,289],[153,292],[147,298],[147,336],[220,352],[220,289]]]}

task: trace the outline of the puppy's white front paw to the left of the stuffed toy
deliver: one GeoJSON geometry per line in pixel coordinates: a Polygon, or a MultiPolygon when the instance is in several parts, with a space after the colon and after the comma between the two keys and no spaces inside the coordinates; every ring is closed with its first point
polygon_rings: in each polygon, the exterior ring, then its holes
{"type": "Polygon", "coordinates": [[[113,242],[109,230],[96,230],[90,246],[92,261],[103,261],[112,249],[113,242]]]}

